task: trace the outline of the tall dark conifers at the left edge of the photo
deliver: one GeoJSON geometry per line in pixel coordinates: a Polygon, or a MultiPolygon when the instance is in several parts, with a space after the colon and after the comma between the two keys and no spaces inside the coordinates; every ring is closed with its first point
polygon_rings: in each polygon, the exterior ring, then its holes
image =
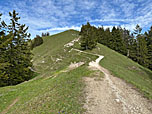
{"type": "Polygon", "coordinates": [[[20,24],[18,13],[9,12],[10,23],[1,20],[0,14],[0,86],[16,85],[33,77],[30,34],[20,24]]]}

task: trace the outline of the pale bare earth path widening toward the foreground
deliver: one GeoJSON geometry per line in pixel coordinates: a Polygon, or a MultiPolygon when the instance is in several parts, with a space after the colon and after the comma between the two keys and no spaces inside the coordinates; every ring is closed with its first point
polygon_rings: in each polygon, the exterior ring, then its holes
{"type": "Polygon", "coordinates": [[[90,62],[89,66],[103,72],[105,77],[102,81],[85,78],[86,114],[152,114],[152,103],[131,85],[101,67],[99,62],[104,57],[98,56],[99,58],[90,62]]]}

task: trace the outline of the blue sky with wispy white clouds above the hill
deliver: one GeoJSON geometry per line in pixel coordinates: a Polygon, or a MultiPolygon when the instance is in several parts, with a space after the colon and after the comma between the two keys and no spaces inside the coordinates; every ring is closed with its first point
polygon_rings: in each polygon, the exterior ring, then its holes
{"type": "Polygon", "coordinates": [[[67,29],[80,30],[89,21],[95,26],[119,26],[143,31],[152,25],[152,0],[0,0],[2,19],[15,9],[20,22],[29,26],[34,37],[42,32],[54,34],[67,29]]]}

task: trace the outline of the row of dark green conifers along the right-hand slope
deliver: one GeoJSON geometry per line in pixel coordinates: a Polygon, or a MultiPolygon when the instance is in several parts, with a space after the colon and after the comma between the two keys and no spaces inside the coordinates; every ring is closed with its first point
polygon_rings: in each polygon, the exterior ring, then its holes
{"type": "Polygon", "coordinates": [[[130,32],[120,26],[113,26],[112,30],[97,28],[88,22],[81,27],[80,45],[83,50],[91,50],[97,43],[103,44],[152,70],[152,26],[144,34],[141,31],[138,24],[130,32]]]}

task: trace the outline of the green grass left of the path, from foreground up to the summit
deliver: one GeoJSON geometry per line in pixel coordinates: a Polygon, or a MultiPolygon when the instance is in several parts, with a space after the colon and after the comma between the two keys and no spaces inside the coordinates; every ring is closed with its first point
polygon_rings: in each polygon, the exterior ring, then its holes
{"type": "Polygon", "coordinates": [[[87,63],[96,57],[80,54],[64,45],[78,38],[78,32],[69,30],[43,38],[44,44],[36,47],[34,67],[38,76],[16,86],[0,88],[0,113],[5,111],[16,99],[18,100],[7,114],[57,114],[82,113],[83,76],[89,76],[87,63]],[[57,58],[60,59],[57,61],[57,58]],[[71,62],[83,61],[86,64],[71,70],[71,62]]]}

